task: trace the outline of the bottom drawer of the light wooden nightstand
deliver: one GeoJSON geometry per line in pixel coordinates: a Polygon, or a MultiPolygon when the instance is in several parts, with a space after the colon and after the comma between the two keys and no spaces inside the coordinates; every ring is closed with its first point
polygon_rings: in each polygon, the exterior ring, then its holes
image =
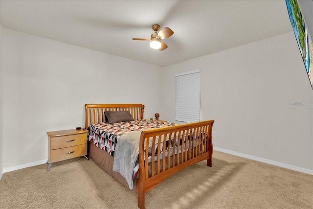
{"type": "Polygon", "coordinates": [[[54,163],[57,161],[80,157],[83,155],[87,155],[86,143],[77,146],[51,150],[49,161],[50,163],[54,163]]]}

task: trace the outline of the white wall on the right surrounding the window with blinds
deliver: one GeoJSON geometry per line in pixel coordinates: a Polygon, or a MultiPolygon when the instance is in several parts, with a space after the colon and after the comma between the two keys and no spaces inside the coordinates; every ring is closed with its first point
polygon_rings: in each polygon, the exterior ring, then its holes
{"type": "Polygon", "coordinates": [[[176,122],[175,74],[196,69],[215,147],[313,173],[313,94],[293,32],[163,68],[164,119],[176,122]]]}

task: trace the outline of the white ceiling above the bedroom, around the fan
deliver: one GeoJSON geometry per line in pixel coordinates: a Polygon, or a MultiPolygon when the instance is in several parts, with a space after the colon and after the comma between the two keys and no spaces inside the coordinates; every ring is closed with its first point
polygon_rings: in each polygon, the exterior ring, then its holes
{"type": "Polygon", "coordinates": [[[167,66],[291,32],[285,0],[0,0],[2,27],[167,66]],[[151,26],[170,27],[152,49],[151,26]]]}

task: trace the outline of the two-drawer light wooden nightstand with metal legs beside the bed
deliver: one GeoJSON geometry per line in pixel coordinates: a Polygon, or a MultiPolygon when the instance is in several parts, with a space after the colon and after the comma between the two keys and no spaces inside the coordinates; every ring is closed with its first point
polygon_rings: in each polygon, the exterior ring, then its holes
{"type": "Polygon", "coordinates": [[[48,161],[47,170],[52,163],[80,156],[87,156],[88,130],[63,130],[47,132],[48,135],[48,161]]]}

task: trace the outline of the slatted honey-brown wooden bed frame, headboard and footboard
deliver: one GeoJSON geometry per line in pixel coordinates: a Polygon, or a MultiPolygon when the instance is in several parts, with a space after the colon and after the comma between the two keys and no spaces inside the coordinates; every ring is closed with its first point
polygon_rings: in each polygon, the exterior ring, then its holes
{"type": "MultiPolygon", "coordinates": [[[[142,104],[85,104],[87,129],[90,124],[104,122],[105,111],[125,111],[128,110],[134,119],[143,119],[144,106],[142,104]]],[[[139,145],[139,176],[136,181],[135,191],[138,193],[138,207],[145,208],[145,192],[151,190],[163,182],[166,178],[177,173],[183,168],[200,161],[207,161],[208,166],[212,166],[212,127],[214,120],[188,123],[183,125],[169,126],[142,131],[139,145]],[[191,140],[188,140],[192,137],[191,140]],[[163,139],[177,140],[177,147],[191,147],[181,149],[181,152],[173,152],[171,157],[165,157],[166,144],[172,147],[171,143],[163,143],[163,139]],[[196,140],[194,140],[196,139],[196,140]],[[152,153],[152,159],[157,159],[148,163],[148,146],[152,144],[154,150],[157,144],[157,152],[152,153]],[[144,156],[145,155],[145,156],[144,156]],[[161,160],[165,159],[165,160],[161,160]]],[[[174,140],[176,141],[176,140],[174,140]]]]}

